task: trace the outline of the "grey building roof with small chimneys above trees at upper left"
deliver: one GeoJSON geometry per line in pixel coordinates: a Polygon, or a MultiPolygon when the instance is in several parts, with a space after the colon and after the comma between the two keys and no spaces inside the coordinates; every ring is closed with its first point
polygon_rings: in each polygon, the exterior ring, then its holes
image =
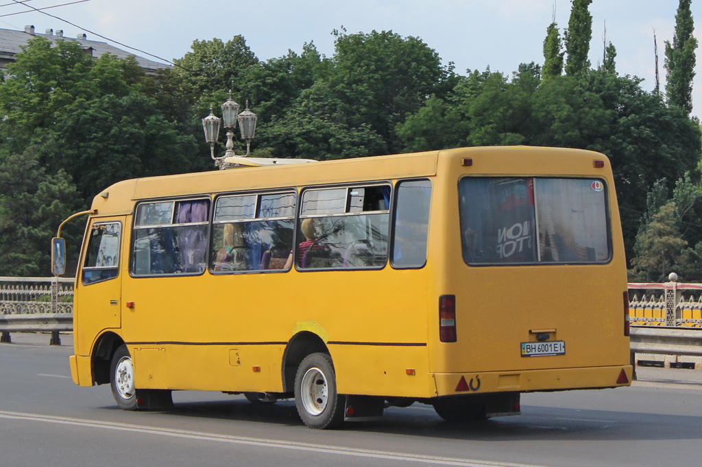
{"type": "Polygon", "coordinates": [[[24,46],[29,39],[37,36],[44,37],[45,39],[53,42],[60,39],[77,41],[84,49],[91,49],[91,53],[94,57],[100,57],[100,55],[104,53],[110,53],[118,58],[126,58],[131,55],[135,57],[138,65],[147,72],[155,72],[158,69],[168,68],[168,65],[154,62],[154,60],[149,60],[148,58],[140,57],[139,55],[127,52],[121,48],[111,46],[109,43],[89,41],[86,38],[86,34],[79,34],[75,39],[72,37],[63,36],[62,30],[57,30],[54,32],[53,29],[46,29],[46,34],[39,34],[34,31],[34,26],[26,26],[24,31],[0,29],[0,68],[5,68],[9,62],[13,62],[15,60],[15,55],[22,52],[22,46],[24,46]]]}

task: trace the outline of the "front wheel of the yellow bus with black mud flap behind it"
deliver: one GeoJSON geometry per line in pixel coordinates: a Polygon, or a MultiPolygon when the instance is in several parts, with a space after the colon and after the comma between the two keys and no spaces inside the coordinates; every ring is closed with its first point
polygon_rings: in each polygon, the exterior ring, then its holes
{"type": "Polygon", "coordinates": [[[110,362],[112,397],[121,410],[154,410],[173,407],[171,391],[137,389],[134,385],[134,364],[125,344],[117,348],[110,362]]]}

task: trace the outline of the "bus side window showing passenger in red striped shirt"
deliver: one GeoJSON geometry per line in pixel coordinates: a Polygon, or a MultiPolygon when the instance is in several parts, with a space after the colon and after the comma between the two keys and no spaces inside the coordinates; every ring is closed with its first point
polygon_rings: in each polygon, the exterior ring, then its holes
{"type": "Polygon", "coordinates": [[[304,191],[298,267],[382,267],[388,259],[389,205],[386,185],[304,191]]]}

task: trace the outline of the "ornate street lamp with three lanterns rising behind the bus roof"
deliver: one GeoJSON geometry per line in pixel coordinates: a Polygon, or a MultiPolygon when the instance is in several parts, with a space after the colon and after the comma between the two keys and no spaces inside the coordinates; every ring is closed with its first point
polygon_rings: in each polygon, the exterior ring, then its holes
{"type": "Polygon", "coordinates": [[[258,116],[249,110],[248,100],[246,101],[246,110],[239,113],[239,104],[232,100],[232,91],[229,92],[227,102],[222,104],[221,120],[212,113],[212,106],[210,106],[210,114],[202,119],[202,128],[205,131],[205,140],[210,144],[210,155],[218,168],[225,168],[227,157],[237,155],[234,153],[234,128],[237,126],[237,122],[239,123],[241,137],[246,140],[246,154],[244,154],[244,157],[251,154],[251,140],[256,134],[257,119],[258,116]],[[224,128],[227,128],[227,151],[225,151],[224,156],[215,157],[214,147],[219,137],[220,122],[223,123],[224,128]]]}

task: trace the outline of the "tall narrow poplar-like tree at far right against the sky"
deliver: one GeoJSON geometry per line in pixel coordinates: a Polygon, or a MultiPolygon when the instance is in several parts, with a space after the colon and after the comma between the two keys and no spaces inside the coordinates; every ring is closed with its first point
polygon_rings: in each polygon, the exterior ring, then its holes
{"type": "Polygon", "coordinates": [[[695,76],[695,49],[697,39],[692,36],[694,21],[690,11],[691,0],[680,0],[675,15],[673,43],[665,41],[665,70],[668,82],[665,95],[668,104],[692,111],[692,79],[695,76]]]}

